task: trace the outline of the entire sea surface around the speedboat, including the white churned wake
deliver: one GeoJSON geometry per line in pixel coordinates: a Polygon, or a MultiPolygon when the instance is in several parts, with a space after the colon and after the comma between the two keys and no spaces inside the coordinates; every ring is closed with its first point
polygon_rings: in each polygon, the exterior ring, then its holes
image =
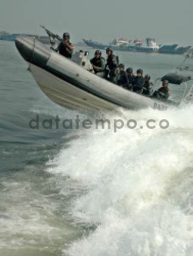
{"type": "MultiPolygon", "coordinates": [[[[183,61],[118,54],[153,82],[183,61]]],[[[45,129],[43,120],[56,116],[93,122],[96,116],[55,105],[27,67],[13,42],[0,41],[0,255],[192,256],[193,105],[97,114],[112,123],[138,122],[116,133],[77,129],[74,122],[45,129]],[[37,116],[39,129],[32,129],[37,116]],[[150,119],[155,129],[145,126],[150,119]],[[167,129],[159,126],[163,119],[167,129]]]]}

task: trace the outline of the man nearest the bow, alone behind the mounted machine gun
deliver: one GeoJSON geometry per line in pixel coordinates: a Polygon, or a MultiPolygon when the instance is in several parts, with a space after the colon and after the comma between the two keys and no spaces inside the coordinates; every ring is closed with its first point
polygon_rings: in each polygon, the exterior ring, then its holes
{"type": "Polygon", "coordinates": [[[69,40],[70,40],[69,33],[63,33],[63,41],[60,42],[59,46],[55,49],[55,51],[59,51],[59,53],[62,56],[67,57],[68,59],[71,59],[74,46],[71,44],[69,40]]]}

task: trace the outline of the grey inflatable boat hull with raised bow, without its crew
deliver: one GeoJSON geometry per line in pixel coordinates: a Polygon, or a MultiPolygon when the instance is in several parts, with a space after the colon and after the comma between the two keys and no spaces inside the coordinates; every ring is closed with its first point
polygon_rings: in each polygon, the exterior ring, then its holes
{"type": "Polygon", "coordinates": [[[86,54],[67,59],[34,38],[18,36],[16,47],[40,89],[58,105],[71,110],[166,110],[172,105],[112,84],[89,71],[86,54]],[[87,60],[87,61],[86,61],[87,60]]]}

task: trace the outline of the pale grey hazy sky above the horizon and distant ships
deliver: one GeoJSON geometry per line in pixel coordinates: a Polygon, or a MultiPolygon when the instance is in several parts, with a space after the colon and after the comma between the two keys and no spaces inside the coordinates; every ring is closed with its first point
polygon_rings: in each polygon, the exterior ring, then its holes
{"type": "Polygon", "coordinates": [[[116,36],[193,45],[193,0],[0,0],[0,30],[44,34],[43,24],[72,42],[116,36]]]}

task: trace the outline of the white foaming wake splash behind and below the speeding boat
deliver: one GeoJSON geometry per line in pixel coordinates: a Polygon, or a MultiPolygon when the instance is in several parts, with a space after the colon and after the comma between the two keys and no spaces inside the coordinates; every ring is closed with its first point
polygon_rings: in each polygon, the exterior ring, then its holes
{"type": "Polygon", "coordinates": [[[167,119],[170,126],[79,132],[60,152],[48,171],[84,186],[71,211],[77,222],[97,226],[65,255],[193,253],[192,110],[122,111],[125,122],[167,119]]]}

